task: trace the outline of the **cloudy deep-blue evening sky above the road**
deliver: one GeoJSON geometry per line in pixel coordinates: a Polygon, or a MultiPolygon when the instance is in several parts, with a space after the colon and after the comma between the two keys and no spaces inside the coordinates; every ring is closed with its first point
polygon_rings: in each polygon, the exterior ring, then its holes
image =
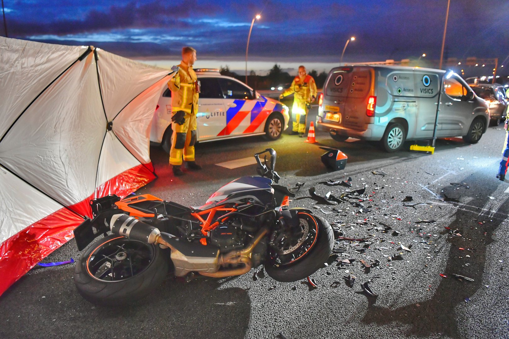
{"type": "MultiPolygon", "coordinates": [[[[4,0],[9,37],[94,45],[128,57],[178,59],[184,45],[199,59],[335,63],[438,59],[446,0],[69,1],[4,0]]],[[[446,57],[509,54],[509,1],[451,0],[446,57]]],[[[5,35],[3,25],[0,32],[5,35]]],[[[507,63],[507,61],[506,61],[507,63]]],[[[228,64],[225,62],[224,64],[228,64]]],[[[507,66],[506,66],[507,67],[507,66]]],[[[251,67],[252,68],[252,67],[251,67]]]]}

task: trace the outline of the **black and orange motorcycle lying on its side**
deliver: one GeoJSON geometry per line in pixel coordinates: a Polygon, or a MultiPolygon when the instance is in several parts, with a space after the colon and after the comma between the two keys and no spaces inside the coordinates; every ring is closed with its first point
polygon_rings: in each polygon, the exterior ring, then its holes
{"type": "Polygon", "coordinates": [[[225,278],[263,265],[274,280],[294,282],[323,267],[333,247],[329,223],[309,209],[290,208],[302,184],[291,190],[277,184],[275,150],[254,157],[260,176],[225,184],[201,207],[149,194],[91,200],[94,218],[74,230],[78,250],[104,237],[76,263],[78,292],[116,306],[144,298],[168,271],[186,280],[225,278]]]}

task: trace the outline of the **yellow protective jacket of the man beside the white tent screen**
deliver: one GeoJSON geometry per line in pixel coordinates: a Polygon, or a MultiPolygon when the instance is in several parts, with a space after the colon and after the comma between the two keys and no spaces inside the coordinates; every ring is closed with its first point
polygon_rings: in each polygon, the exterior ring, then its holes
{"type": "Polygon", "coordinates": [[[168,87],[172,91],[172,111],[196,114],[198,112],[198,79],[191,66],[187,68],[187,71],[186,68],[186,65],[180,63],[179,71],[168,81],[168,87]]]}

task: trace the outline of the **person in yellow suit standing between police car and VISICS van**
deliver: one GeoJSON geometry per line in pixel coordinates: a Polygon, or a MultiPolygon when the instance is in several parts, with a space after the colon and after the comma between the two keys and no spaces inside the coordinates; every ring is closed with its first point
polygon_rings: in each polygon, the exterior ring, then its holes
{"type": "Polygon", "coordinates": [[[297,75],[290,85],[290,88],[285,90],[279,99],[294,93],[293,106],[292,106],[292,134],[298,134],[299,137],[304,137],[306,133],[306,114],[309,112],[311,103],[317,97],[317,85],[312,76],[306,74],[306,68],[299,66],[299,75],[297,75]]]}

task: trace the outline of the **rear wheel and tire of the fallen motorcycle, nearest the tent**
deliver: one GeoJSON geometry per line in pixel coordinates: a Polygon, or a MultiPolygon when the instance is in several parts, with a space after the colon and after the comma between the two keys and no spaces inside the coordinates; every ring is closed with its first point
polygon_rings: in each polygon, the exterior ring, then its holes
{"type": "Polygon", "coordinates": [[[94,304],[121,306],[142,299],[159,286],[168,273],[169,261],[169,252],[158,245],[109,235],[81,254],[74,268],[74,283],[79,294],[94,304]]]}

